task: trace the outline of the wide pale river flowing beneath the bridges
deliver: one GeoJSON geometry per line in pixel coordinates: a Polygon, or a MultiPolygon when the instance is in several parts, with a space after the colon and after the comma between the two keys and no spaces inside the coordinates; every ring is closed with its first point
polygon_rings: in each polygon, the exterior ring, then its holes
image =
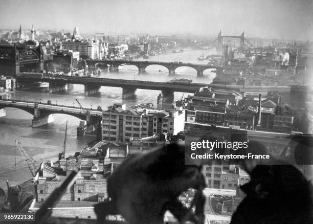
{"type": "MultiPolygon", "coordinates": [[[[208,63],[207,60],[198,61],[197,57],[202,54],[216,54],[214,50],[189,50],[182,53],[168,53],[156,56],[149,56],[150,61],[182,61],[189,63],[208,63]]],[[[150,65],[146,68],[146,73],[138,74],[138,69],[134,65],[120,66],[118,71],[109,72],[102,70],[99,77],[116,79],[136,79],[148,81],[169,81],[175,78],[192,79],[193,82],[210,83],[215,77],[215,73],[210,70],[204,72],[204,77],[197,77],[197,72],[188,67],[177,68],[174,75],[169,75],[168,70],[161,65],[150,65]]],[[[83,107],[96,108],[101,106],[106,109],[113,103],[125,103],[126,107],[143,102],[152,102],[157,106],[157,96],[160,91],[138,89],[137,95],[130,99],[122,99],[122,88],[101,87],[99,95],[84,96],[84,86],[71,84],[64,92],[47,93],[43,87],[32,87],[23,91],[10,93],[10,99],[28,100],[78,106],[75,99],[83,107]]],[[[175,99],[181,98],[183,93],[175,93],[175,99]]],[[[171,105],[165,105],[170,107],[171,105]]],[[[27,168],[24,159],[14,145],[14,140],[22,143],[23,148],[36,161],[37,167],[41,161],[56,161],[58,153],[62,151],[62,144],[65,132],[65,123],[68,120],[68,139],[66,143],[66,154],[74,154],[86,146],[88,142],[95,139],[93,136],[77,137],[76,128],[79,119],[56,114],[55,121],[37,128],[32,128],[31,114],[16,108],[6,108],[6,116],[0,118],[0,187],[6,189],[6,180],[10,184],[22,183],[32,176],[27,168]],[[16,161],[16,163],[15,163],[16,161]],[[16,164],[16,165],[15,165],[16,164]]]]}

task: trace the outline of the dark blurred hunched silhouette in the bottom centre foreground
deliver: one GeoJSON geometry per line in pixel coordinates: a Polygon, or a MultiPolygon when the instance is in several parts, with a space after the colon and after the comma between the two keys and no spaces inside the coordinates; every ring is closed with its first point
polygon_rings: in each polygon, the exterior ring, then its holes
{"type": "Polygon", "coordinates": [[[129,223],[163,223],[169,210],[180,222],[204,222],[205,179],[200,166],[185,165],[184,147],[171,144],[145,154],[131,155],[107,180],[108,199],[95,206],[98,222],[106,215],[122,215],[129,223]],[[195,213],[178,196],[197,190],[195,213]]]}

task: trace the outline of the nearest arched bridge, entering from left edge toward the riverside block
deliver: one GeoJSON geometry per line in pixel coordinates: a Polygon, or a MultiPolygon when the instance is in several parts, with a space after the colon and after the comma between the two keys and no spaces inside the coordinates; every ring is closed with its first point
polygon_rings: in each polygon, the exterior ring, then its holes
{"type": "Polygon", "coordinates": [[[99,129],[102,120],[102,111],[92,108],[80,108],[19,100],[0,100],[0,117],[6,116],[6,107],[18,108],[33,115],[32,127],[39,127],[53,122],[54,114],[65,114],[87,121],[86,132],[92,132],[99,129]]]}

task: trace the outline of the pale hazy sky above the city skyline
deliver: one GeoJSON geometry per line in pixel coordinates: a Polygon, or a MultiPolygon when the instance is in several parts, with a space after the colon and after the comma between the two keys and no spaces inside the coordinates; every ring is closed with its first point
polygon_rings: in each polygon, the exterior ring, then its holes
{"type": "Polygon", "coordinates": [[[0,0],[0,28],[312,39],[313,0],[0,0]]]}

